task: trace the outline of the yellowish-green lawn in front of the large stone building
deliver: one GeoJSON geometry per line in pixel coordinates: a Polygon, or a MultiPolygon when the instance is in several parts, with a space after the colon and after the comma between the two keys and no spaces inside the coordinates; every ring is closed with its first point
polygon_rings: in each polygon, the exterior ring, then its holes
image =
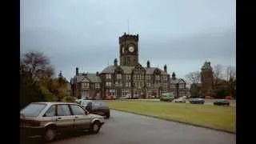
{"type": "Polygon", "coordinates": [[[110,108],[235,132],[234,106],[174,102],[107,101],[110,108]]]}

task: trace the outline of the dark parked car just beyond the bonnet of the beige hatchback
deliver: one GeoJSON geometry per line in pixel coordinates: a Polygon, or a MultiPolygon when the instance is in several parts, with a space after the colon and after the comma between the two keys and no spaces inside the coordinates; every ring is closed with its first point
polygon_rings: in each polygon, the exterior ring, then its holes
{"type": "Polygon", "coordinates": [[[92,101],[88,102],[86,110],[90,114],[98,114],[110,118],[110,107],[107,106],[106,102],[102,101],[92,101]]]}

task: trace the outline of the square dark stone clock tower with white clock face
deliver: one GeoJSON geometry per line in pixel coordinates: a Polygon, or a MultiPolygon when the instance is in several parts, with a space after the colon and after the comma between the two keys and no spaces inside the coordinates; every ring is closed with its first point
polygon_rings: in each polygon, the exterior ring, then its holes
{"type": "Polygon", "coordinates": [[[120,65],[136,66],[138,64],[138,34],[123,34],[119,37],[120,65]]]}

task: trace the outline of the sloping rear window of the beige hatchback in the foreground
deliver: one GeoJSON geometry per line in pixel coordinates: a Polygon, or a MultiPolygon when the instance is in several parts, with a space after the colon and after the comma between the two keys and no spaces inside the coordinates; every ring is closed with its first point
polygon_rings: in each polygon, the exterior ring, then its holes
{"type": "Polygon", "coordinates": [[[45,107],[46,104],[43,103],[31,103],[21,110],[21,114],[26,117],[37,117],[45,107]]]}

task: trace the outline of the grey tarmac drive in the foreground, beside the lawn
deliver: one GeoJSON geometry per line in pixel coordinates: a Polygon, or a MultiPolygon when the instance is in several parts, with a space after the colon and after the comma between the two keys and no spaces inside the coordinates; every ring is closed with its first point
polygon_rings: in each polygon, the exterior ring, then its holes
{"type": "Polygon", "coordinates": [[[62,135],[50,143],[235,144],[235,139],[235,134],[111,110],[110,119],[106,119],[106,124],[98,134],[62,135]]]}

